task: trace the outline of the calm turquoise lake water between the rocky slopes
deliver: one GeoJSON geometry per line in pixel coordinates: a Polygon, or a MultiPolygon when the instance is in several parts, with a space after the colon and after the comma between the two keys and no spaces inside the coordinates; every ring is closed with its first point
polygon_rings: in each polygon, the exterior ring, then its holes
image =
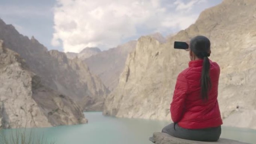
{"type": "MultiPolygon", "coordinates": [[[[86,112],[88,124],[31,128],[35,135],[44,135],[55,144],[152,144],[148,138],[160,132],[166,121],[127,119],[103,116],[101,112],[86,112]]],[[[2,130],[9,134],[10,129],[2,130]]],[[[222,138],[256,144],[256,130],[222,126],[222,138]]]]}

